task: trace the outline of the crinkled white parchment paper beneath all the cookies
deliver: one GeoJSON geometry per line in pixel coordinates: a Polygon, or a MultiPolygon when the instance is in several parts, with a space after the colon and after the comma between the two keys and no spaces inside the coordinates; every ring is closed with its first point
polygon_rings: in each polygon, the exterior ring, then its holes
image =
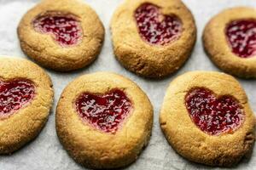
{"type": "MultiPolygon", "coordinates": [[[[20,43],[16,34],[16,28],[20,18],[29,8],[36,5],[38,0],[0,0],[0,55],[19,56],[26,58],[20,50],[20,43]]],[[[55,1],[53,0],[53,3],[55,1]]],[[[163,80],[153,81],[137,77],[129,71],[126,71],[114,59],[111,37],[109,31],[109,21],[114,9],[122,3],[122,0],[86,0],[92,8],[96,9],[105,29],[106,39],[96,62],[82,71],[70,73],[59,73],[46,70],[53,80],[55,88],[55,104],[50,112],[49,121],[38,138],[27,144],[21,150],[16,151],[11,156],[0,156],[0,170],[80,170],[80,167],[73,161],[65,150],[62,149],[55,133],[55,106],[63,88],[67,86],[75,77],[85,73],[95,71],[113,71],[125,77],[131,78],[134,82],[143,88],[148,94],[149,99],[154,105],[154,127],[152,137],[148,147],[139,156],[138,160],[126,169],[219,169],[218,167],[206,167],[183,159],[172,150],[167,144],[166,139],[160,131],[159,112],[166,88],[169,82],[177,75],[186,71],[206,70],[219,71],[216,66],[207,58],[201,43],[201,32],[207,21],[214,14],[224,8],[238,5],[251,6],[256,8],[255,0],[184,0],[184,3],[192,10],[195,15],[198,27],[198,39],[195,50],[189,61],[175,75],[163,80]]],[[[26,58],[27,59],[27,58],[26,58]]],[[[0,63],[1,65],[1,63],[0,63]]],[[[241,80],[243,88],[246,89],[253,111],[256,111],[256,80],[241,80]]],[[[234,169],[256,170],[256,147],[253,155],[243,159],[234,169]]]]}

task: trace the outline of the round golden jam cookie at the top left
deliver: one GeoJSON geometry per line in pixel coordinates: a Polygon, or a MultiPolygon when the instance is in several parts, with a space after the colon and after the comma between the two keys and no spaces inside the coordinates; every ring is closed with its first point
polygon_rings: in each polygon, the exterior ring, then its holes
{"type": "Polygon", "coordinates": [[[85,3],[43,0],[23,16],[18,36],[23,52],[38,64],[55,71],[73,71],[96,59],[104,28],[85,3]]]}

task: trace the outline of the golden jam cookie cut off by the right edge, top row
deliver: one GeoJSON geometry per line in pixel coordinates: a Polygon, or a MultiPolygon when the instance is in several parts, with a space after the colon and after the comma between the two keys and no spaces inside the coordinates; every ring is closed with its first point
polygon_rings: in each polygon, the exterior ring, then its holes
{"type": "Polygon", "coordinates": [[[237,77],[256,78],[256,10],[229,8],[207,23],[205,50],[215,65],[237,77]]]}

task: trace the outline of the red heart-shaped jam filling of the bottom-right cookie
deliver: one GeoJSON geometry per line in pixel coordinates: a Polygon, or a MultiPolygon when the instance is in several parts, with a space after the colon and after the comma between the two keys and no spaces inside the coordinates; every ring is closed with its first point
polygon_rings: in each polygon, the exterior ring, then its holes
{"type": "Polygon", "coordinates": [[[208,134],[233,133],[245,119],[237,99],[229,95],[216,98],[207,88],[191,89],[185,104],[195,125],[208,134]]]}

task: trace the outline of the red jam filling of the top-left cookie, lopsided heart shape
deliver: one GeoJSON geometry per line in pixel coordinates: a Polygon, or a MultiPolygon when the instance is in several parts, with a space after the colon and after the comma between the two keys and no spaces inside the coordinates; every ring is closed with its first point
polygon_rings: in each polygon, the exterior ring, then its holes
{"type": "Polygon", "coordinates": [[[61,46],[72,46],[81,41],[82,29],[79,20],[73,14],[48,12],[33,20],[34,29],[50,34],[61,46]]]}

